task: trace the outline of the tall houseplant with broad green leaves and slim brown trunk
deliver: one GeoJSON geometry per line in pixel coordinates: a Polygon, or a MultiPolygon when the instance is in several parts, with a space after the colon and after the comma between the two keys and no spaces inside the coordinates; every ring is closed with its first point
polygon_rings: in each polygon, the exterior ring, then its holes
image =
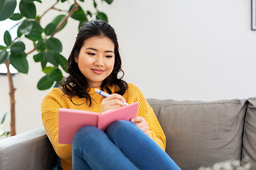
{"type": "MultiPolygon", "coordinates": [[[[12,38],[9,30],[4,33],[5,45],[0,45],[0,64],[6,64],[7,76],[9,78],[10,98],[11,98],[11,136],[16,134],[15,130],[15,99],[14,84],[12,75],[9,71],[9,65],[12,64],[18,72],[28,74],[28,61],[26,57],[32,52],[35,62],[41,62],[42,71],[46,74],[37,84],[39,90],[50,89],[52,86],[59,86],[63,79],[63,72],[67,72],[67,60],[60,53],[63,50],[62,43],[54,35],[62,30],[69,18],[78,21],[78,27],[92,18],[107,21],[107,15],[97,8],[96,0],[92,0],[95,12],[85,11],[80,4],[85,0],[55,0],[41,16],[37,15],[35,3],[43,3],[41,0],[0,0],[0,21],[11,19],[18,21],[16,38],[12,38]],[[58,3],[67,3],[72,1],[68,9],[55,8],[58,3]],[[18,7],[20,13],[14,13],[18,7]],[[55,16],[46,27],[41,26],[41,18],[50,10],[59,11],[59,15],[55,16]],[[25,52],[26,45],[23,40],[33,42],[33,50],[25,52]],[[50,64],[50,65],[49,65],[50,64]]],[[[107,4],[112,4],[113,0],[101,0],[107,4]]],[[[15,26],[13,27],[15,28],[15,26]]]]}

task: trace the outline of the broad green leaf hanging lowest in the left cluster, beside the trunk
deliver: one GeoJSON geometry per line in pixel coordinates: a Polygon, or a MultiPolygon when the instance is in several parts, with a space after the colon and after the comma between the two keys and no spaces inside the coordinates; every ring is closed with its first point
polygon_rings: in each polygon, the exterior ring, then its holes
{"type": "Polygon", "coordinates": [[[28,61],[26,60],[26,53],[21,55],[10,55],[10,62],[18,72],[28,74],[28,61]]]}

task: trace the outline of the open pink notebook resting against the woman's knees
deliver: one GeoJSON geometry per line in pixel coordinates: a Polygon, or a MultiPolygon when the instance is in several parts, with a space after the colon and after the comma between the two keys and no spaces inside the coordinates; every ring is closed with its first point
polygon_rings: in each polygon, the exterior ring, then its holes
{"type": "Polygon", "coordinates": [[[60,108],[58,111],[58,142],[72,145],[75,132],[86,125],[95,126],[103,131],[116,120],[131,120],[137,116],[139,103],[132,103],[104,113],[60,108]]]}

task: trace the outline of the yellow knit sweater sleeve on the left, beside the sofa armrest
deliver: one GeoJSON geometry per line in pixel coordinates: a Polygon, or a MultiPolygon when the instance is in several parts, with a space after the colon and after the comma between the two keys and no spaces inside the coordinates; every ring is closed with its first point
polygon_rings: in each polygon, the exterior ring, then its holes
{"type": "Polygon", "coordinates": [[[41,115],[46,134],[61,159],[72,159],[72,145],[58,143],[58,110],[60,103],[51,95],[46,95],[41,102],[41,115]]]}

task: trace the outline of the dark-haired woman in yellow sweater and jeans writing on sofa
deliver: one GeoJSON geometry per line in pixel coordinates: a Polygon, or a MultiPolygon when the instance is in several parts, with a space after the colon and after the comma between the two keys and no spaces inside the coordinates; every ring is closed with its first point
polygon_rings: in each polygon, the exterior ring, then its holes
{"type": "Polygon", "coordinates": [[[62,88],[50,91],[41,103],[43,126],[62,169],[180,169],[164,152],[164,132],[142,92],[118,78],[123,73],[119,45],[108,23],[92,20],[80,28],[68,72],[62,88]],[[102,98],[95,89],[112,95],[102,98]],[[73,145],[58,143],[60,108],[102,113],[137,101],[137,117],[131,121],[118,120],[106,132],[85,126],[73,145]]]}

